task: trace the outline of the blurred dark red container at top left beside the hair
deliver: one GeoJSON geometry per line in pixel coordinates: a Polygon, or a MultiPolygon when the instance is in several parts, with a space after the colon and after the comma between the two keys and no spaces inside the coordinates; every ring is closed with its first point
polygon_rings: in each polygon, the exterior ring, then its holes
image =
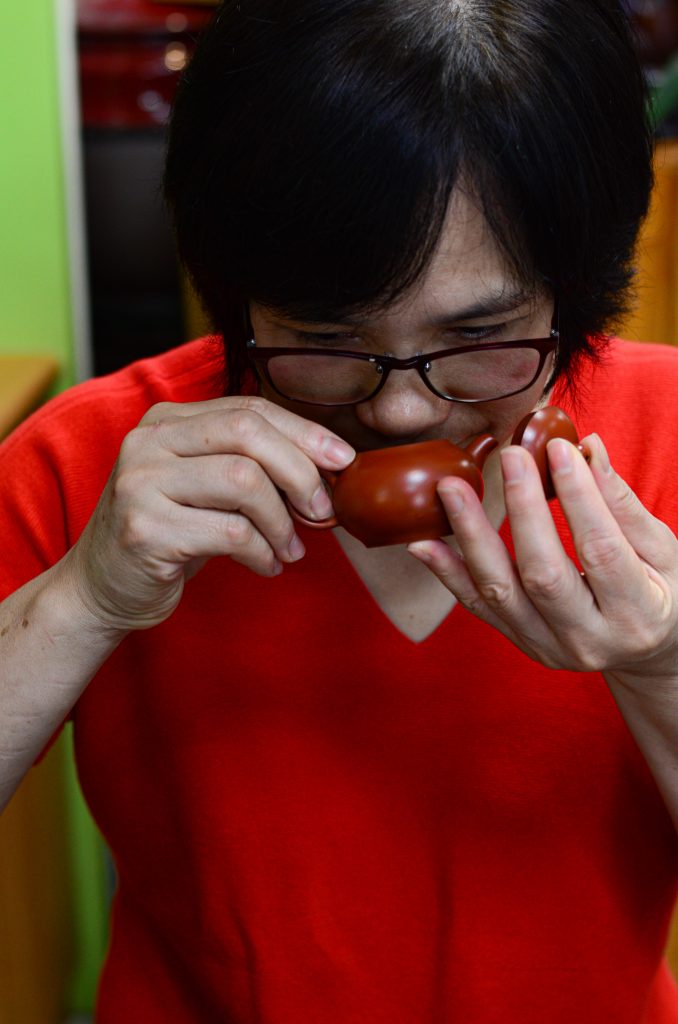
{"type": "Polygon", "coordinates": [[[165,124],[179,75],[213,8],[150,0],[78,0],[82,122],[165,124]]]}

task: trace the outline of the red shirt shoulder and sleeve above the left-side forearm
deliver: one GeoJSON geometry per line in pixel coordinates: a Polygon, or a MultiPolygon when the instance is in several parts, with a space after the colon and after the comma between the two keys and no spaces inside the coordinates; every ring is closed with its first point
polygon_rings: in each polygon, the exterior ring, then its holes
{"type": "Polygon", "coordinates": [[[223,364],[218,338],[142,359],[57,395],[0,444],[0,528],[16,550],[23,544],[25,561],[26,552],[39,553],[34,574],[77,539],[124,437],[147,410],[220,396],[223,364]]]}

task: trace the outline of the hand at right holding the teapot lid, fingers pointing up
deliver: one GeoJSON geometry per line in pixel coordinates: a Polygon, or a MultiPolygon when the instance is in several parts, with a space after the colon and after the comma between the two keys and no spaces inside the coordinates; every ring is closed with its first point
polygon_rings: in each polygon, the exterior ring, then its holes
{"type": "Polygon", "coordinates": [[[473,614],[553,669],[617,681],[678,679],[678,539],[616,473],[601,439],[548,444],[554,486],[584,574],[566,555],[524,450],[502,452],[515,562],[472,488],[446,478],[438,494],[458,550],[411,545],[473,614]]]}

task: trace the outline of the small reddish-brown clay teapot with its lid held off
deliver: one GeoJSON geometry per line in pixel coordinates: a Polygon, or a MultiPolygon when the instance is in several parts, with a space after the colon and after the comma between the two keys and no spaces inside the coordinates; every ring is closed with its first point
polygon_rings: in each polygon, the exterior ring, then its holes
{"type": "MultiPolygon", "coordinates": [[[[579,440],[569,417],[549,406],[524,417],[512,438],[513,444],[521,444],[535,459],[547,498],[555,496],[546,458],[546,444],[553,437],[564,437],[574,444],[579,440]]],[[[436,493],[438,481],[444,476],[461,476],[481,499],[482,467],[496,447],[492,434],[481,434],[466,449],[440,440],[361,452],[341,472],[322,471],[332,497],[333,516],[317,522],[291,506],[290,511],[314,529],[343,526],[368,548],[447,537],[452,528],[436,493]]]]}

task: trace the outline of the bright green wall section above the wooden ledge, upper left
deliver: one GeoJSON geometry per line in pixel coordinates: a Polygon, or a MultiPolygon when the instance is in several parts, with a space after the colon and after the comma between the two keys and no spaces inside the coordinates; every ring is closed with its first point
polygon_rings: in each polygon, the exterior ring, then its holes
{"type": "Polygon", "coordinates": [[[3,4],[0,351],[50,352],[74,379],[55,4],[3,4]]]}

